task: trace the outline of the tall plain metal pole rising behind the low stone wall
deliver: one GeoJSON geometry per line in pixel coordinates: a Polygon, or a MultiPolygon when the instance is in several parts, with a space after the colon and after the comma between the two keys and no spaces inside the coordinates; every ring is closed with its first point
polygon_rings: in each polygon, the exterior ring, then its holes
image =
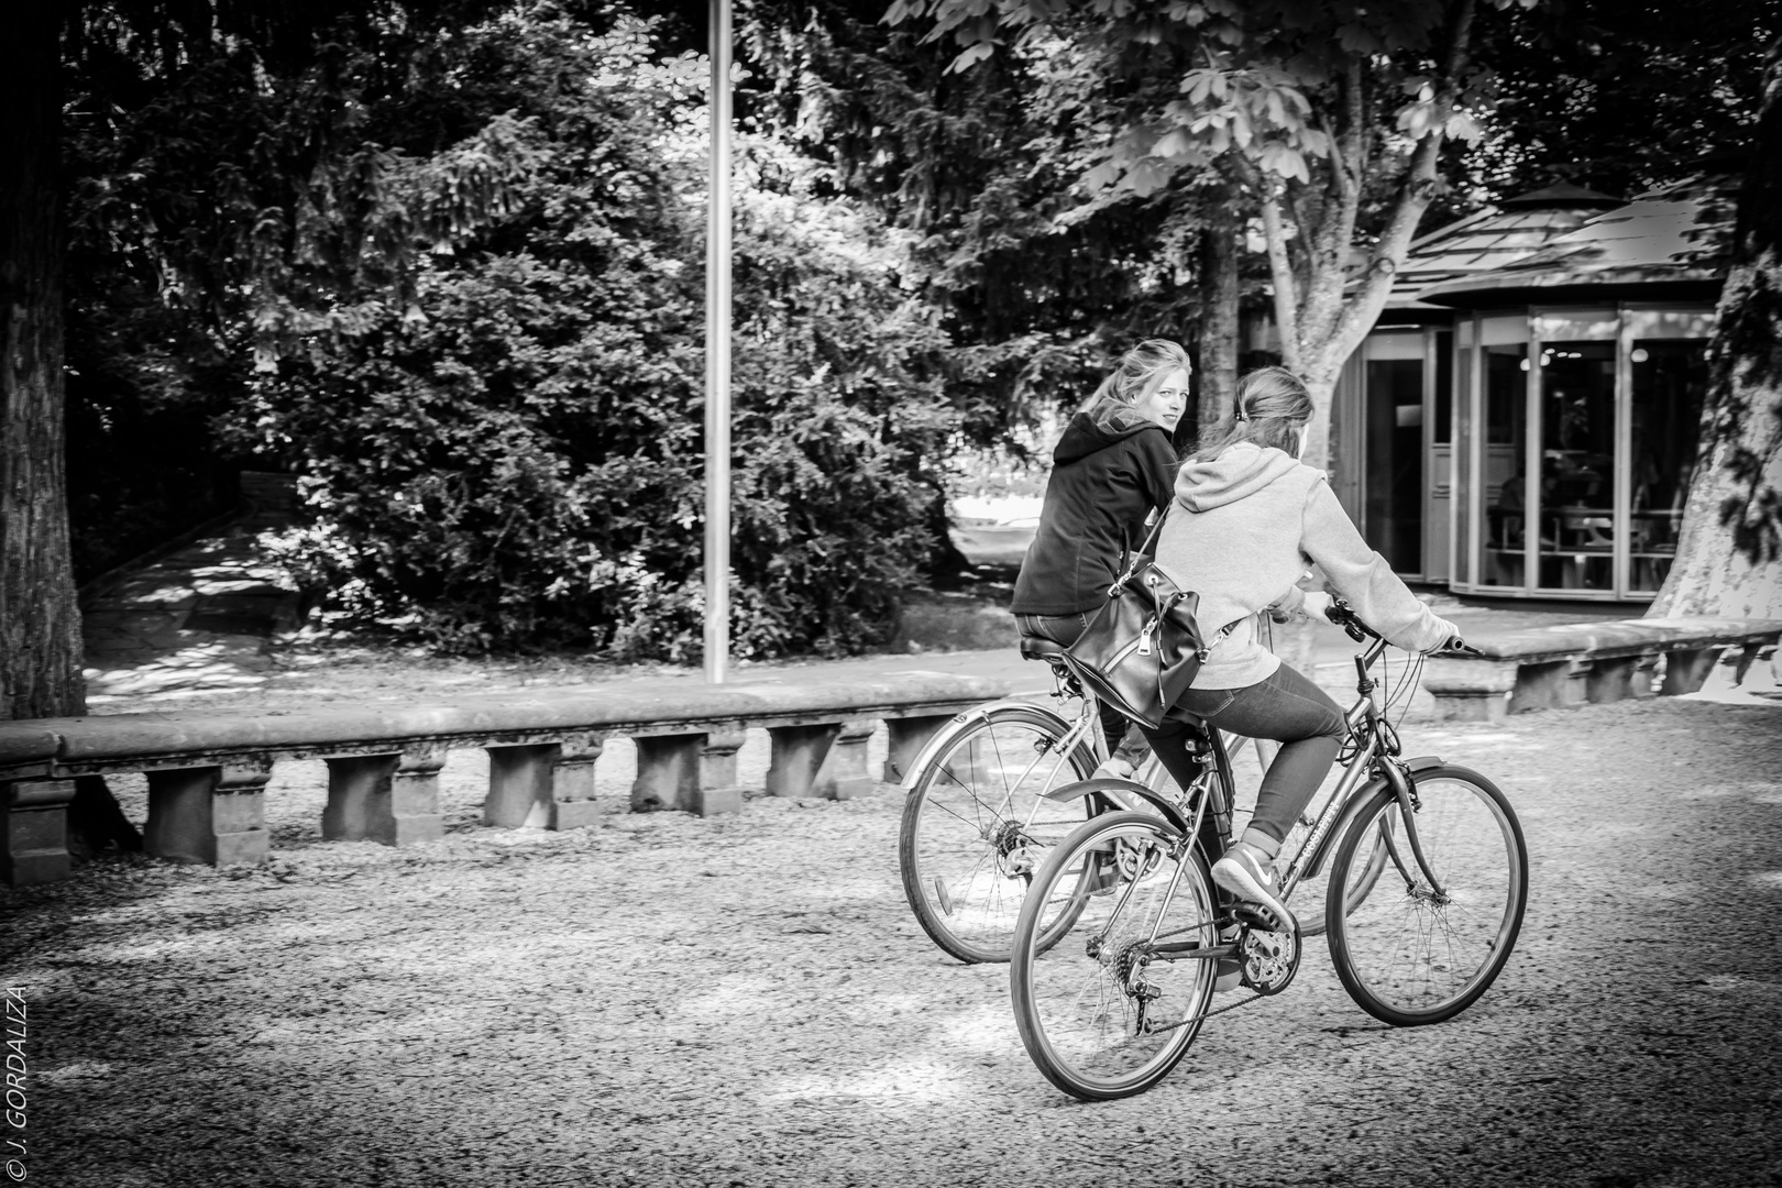
{"type": "Polygon", "coordinates": [[[706,212],[706,680],[731,663],[731,0],[711,0],[706,212]]]}

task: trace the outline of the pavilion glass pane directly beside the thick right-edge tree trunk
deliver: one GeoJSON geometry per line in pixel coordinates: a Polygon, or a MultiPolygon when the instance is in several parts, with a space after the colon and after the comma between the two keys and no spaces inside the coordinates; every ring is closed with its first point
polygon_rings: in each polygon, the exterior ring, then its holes
{"type": "Polygon", "coordinates": [[[1677,556],[1707,394],[1707,342],[1634,338],[1629,588],[1657,593],[1677,556]]]}

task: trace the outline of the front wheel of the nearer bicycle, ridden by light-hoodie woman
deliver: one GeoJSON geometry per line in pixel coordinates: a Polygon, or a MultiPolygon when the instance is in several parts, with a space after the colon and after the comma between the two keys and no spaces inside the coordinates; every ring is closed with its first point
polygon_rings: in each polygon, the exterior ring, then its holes
{"type": "Polygon", "coordinates": [[[1329,878],[1324,924],[1336,976],[1367,1013],[1415,1028],[1467,1010],[1504,969],[1522,930],[1529,857],[1504,793],[1443,766],[1417,775],[1408,821],[1392,789],[1376,793],[1344,834],[1329,878]]]}

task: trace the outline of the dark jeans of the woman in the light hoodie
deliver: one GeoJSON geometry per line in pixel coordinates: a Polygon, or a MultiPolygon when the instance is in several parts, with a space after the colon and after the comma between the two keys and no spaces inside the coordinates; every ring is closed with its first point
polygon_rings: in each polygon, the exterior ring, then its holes
{"type": "MultiPolygon", "coordinates": [[[[1276,668],[1267,680],[1242,689],[1189,689],[1176,700],[1176,709],[1205,720],[1208,727],[1281,743],[1281,752],[1262,777],[1256,814],[1249,819],[1251,828],[1276,842],[1287,839],[1287,830],[1294,828],[1294,821],[1329,775],[1349,734],[1342,709],[1329,693],[1287,664],[1276,668]]],[[[1144,732],[1181,787],[1196,775],[1189,743],[1198,730],[1196,723],[1171,714],[1162,728],[1144,732]]]]}

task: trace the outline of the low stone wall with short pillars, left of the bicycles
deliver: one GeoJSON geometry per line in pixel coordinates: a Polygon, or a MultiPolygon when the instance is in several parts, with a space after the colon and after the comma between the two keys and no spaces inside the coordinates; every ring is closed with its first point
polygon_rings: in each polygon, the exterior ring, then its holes
{"type": "Polygon", "coordinates": [[[144,773],[148,853],[182,862],[264,862],[266,785],[287,759],[328,764],[323,835],[406,846],[444,834],[438,771],[453,748],[488,750],[483,819],[504,828],[577,828],[595,818],[604,743],[629,737],[633,810],[736,812],[745,730],[772,737],[766,791],[846,798],[871,787],[866,745],[889,732],[884,778],[953,714],[1003,696],[982,677],[896,682],[716,686],[675,695],[560,689],[449,705],[315,711],[191,711],[0,723],[0,875],[64,878],[68,803],[82,775],[144,773]]]}

